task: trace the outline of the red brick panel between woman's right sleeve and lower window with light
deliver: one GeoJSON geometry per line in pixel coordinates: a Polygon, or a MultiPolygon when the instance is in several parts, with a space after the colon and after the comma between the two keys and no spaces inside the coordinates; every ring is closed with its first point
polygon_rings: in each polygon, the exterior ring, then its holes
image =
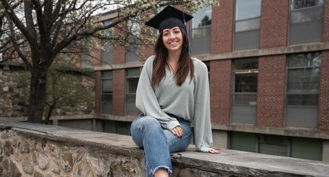
{"type": "Polygon", "coordinates": [[[210,111],[214,123],[230,124],[231,60],[210,62],[210,111]]]}

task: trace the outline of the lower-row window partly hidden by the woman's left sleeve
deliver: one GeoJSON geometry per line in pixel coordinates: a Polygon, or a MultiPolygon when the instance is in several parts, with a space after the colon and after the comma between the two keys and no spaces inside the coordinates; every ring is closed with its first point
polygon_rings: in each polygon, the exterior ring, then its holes
{"type": "Polygon", "coordinates": [[[136,89],[139,78],[139,68],[126,70],[126,87],[125,87],[125,115],[137,115],[136,108],[136,89]]]}

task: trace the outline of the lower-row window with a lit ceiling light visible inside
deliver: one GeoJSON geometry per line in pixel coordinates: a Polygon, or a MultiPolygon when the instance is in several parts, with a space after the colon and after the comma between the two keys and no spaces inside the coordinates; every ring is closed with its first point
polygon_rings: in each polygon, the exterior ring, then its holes
{"type": "Polygon", "coordinates": [[[232,70],[231,122],[254,124],[256,121],[256,94],[258,59],[236,59],[232,70]]]}

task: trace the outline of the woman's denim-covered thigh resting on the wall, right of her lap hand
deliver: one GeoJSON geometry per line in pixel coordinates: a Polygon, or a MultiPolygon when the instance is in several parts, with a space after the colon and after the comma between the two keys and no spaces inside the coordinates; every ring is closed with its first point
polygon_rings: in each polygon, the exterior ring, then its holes
{"type": "Polygon", "coordinates": [[[192,136],[191,126],[184,123],[180,123],[180,125],[183,128],[183,137],[181,138],[173,135],[171,131],[164,129],[164,135],[167,137],[170,153],[184,151],[186,150],[188,144],[190,144],[192,136]]]}

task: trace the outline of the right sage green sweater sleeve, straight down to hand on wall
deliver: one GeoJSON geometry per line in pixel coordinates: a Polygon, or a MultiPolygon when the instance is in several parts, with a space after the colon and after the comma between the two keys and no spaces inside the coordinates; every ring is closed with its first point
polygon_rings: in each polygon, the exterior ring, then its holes
{"type": "Polygon", "coordinates": [[[199,62],[195,67],[195,111],[194,133],[195,149],[201,152],[212,150],[212,132],[210,123],[210,91],[208,69],[206,64],[199,62]]]}

